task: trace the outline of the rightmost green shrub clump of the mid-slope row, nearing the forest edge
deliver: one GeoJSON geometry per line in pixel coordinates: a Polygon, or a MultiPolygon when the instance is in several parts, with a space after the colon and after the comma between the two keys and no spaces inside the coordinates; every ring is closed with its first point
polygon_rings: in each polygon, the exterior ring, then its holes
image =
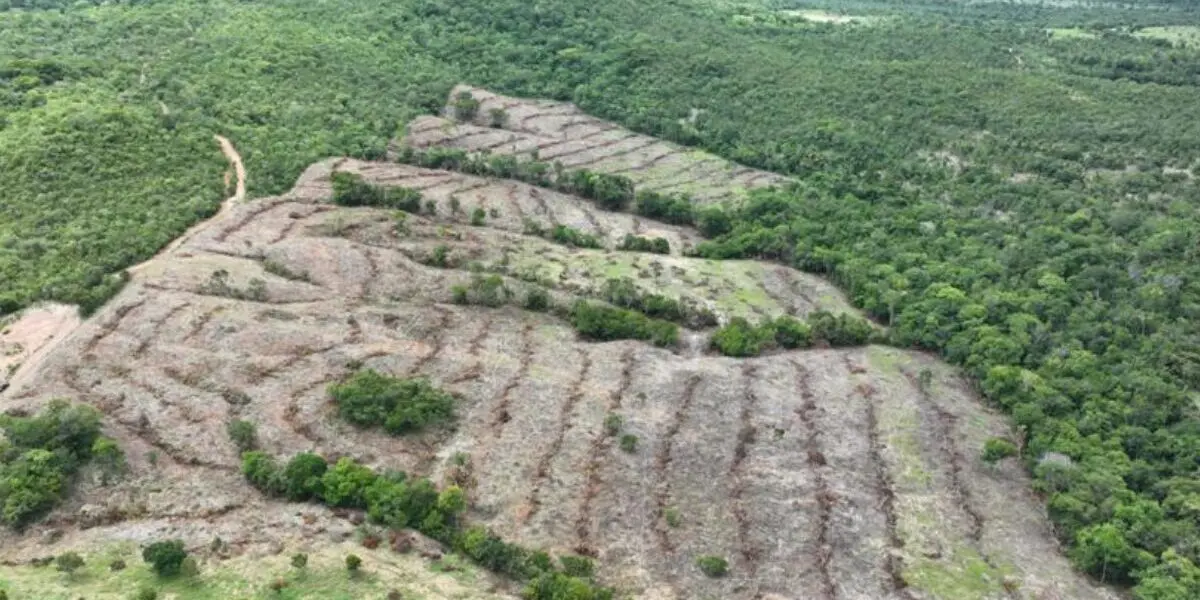
{"type": "Polygon", "coordinates": [[[726,356],[745,358],[757,356],[776,346],[791,349],[823,343],[836,348],[878,340],[878,334],[866,319],[848,313],[816,311],[805,320],[779,317],[757,326],[737,317],[713,334],[712,346],[726,356]]]}

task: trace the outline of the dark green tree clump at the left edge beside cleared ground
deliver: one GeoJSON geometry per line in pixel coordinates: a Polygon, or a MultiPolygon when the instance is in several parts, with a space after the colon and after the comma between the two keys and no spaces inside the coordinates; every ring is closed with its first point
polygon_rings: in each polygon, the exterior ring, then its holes
{"type": "Polygon", "coordinates": [[[125,463],[116,444],[100,436],[100,412],[89,406],[55,400],[34,416],[0,415],[0,521],[10,527],[53,508],[88,461],[106,470],[125,463]]]}

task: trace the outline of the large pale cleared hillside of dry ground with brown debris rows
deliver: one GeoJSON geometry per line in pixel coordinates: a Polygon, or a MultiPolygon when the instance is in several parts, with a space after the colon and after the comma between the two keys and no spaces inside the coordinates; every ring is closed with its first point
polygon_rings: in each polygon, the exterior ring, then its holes
{"type": "MultiPolygon", "coordinates": [[[[565,104],[490,102],[539,136],[626,134],[565,104]]],[[[708,167],[692,176],[714,186],[710,199],[769,179],[719,186],[737,168],[698,164],[708,167]]],[[[553,316],[450,304],[450,287],[479,262],[511,275],[542,269],[562,302],[628,275],[709,301],[724,318],[845,306],[828,283],[787,268],[563,248],[523,236],[524,217],[570,220],[610,240],[648,229],[673,247],[696,239],[516,182],[314,164],[289,193],[232,204],[142,266],[0,396],[4,409],[56,396],[101,408],[131,463],[124,481],[85,478],[44,523],[0,533],[0,559],[168,535],[194,547],[221,536],[251,556],[347,540],[353,527],[331,512],[265,500],[244,482],[226,424],[248,419],[277,455],[353,455],[436,480],[466,455],[473,521],[527,546],[595,556],[602,581],[632,598],[1116,598],[1070,570],[1019,466],[978,460],[1006,421],[929,356],[868,347],[737,360],[702,352],[704,331],[688,331],[695,343],[679,350],[589,343],[553,316]],[[397,230],[390,211],[336,208],[334,170],[421,188],[437,215],[397,230]],[[499,216],[468,227],[451,196],[463,214],[486,205],[499,216]],[[422,264],[440,244],[464,259],[422,264]],[[457,425],[401,439],[340,422],[325,389],[358,365],[456,392],[457,425]],[[610,414],[637,437],[632,452],[606,432],[610,414]],[[730,576],[702,575],[702,554],[726,557],[730,576]]]]}

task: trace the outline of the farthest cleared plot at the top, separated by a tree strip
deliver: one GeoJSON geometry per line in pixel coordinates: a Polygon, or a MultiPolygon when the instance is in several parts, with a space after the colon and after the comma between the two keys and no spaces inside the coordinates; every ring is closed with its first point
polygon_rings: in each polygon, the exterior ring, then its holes
{"type": "Polygon", "coordinates": [[[685,193],[700,204],[737,203],[749,190],[790,182],[774,173],[634,133],[570,103],[512,98],[460,85],[450,94],[451,104],[460,94],[470,94],[480,102],[473,121],[455,121],[455,112],[448,106],[444,116],[413,120],[394,150],[400,145],[440,145],[534,156],[570,169],[620,174],[640,190],[685,193]],[[492,110],[506,115],[498,127],[490,126],[492,110]]]}

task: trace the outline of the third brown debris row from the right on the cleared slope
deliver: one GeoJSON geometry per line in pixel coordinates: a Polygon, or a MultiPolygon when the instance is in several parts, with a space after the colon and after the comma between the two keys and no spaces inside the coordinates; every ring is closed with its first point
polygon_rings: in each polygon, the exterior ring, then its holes
{"type": "Polygon", "coordinates": [[[814,563],[817,565],[817,570],[821,575],[821,593],[827,600],[838,599],[838,586],[834,584],[833,574],[829,569],[829,560],[833,558],[834,547],[833,540],[829,535],[829,520],[833,514],[833,506],[836,504],[838,498],[829,490],[829,482],[826,480],[824,467],[826,457],[821,450],[821,428],[817,427],[816,415],[817,415],[817,403],[816,396],[812,394],[812,386],[810,384],[812,379],[812,373],[808,368],[804,368],[797,361],[791,361],[792,368],[796,371],[796,384],[800,392],[800,408],[796,412],[797,416],[800,418],[800,424],[804,426],[806,438],[805,445],[805,464],[812,473],[812,479],[816,482],[817,491],[817,539],[814,541],[814,563]]]}

